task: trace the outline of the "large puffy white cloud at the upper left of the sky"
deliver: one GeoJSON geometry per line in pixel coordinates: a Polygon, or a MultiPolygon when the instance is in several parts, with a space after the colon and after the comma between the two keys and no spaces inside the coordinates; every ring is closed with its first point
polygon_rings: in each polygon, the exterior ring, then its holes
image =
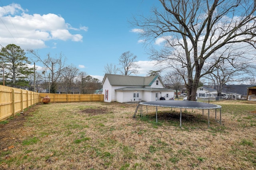
{"type": "MultiPolygon", "coordinates": [[[[20,4],[0,7],[0,39],[2,45],[14,43],[22,48],[45,48],[46,41],[82,41],[81,34],[70,30],[87,31],[88,27],[74,28],[64,18],[56,14],[27,14],[20,4]]],[[[56,48],[56,45],[55,47],[56,48]]]]}

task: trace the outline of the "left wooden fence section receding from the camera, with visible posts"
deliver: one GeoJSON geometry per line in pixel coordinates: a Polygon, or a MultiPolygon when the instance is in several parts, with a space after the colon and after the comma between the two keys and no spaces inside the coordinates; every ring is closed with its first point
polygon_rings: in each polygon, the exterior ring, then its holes
{"type": "Polygon", "coordinates": [[[39,102],[36,92],[0,85],[0,121],[39,102]]]}

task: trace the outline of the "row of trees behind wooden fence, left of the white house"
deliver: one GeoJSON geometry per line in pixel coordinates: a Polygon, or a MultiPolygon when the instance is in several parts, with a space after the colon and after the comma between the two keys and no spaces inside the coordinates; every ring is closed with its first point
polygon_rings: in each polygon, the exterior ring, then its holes
{"type": "Polygon", "coordinates": [[[26,57],[24,49],[15,44],[2,47],[0,51],[0,67],[2,81],[0,84],[14,88],[23,88],[36,92],[81,93],[93,94],[101,89],[97,78],[87,75],[73,64],[66,65],[66,57],[60,53],[52,57],[47,54],[41,57],[37,51],[28,50],[35,61],[42,63],[42,70],[29,67],[32,61],[26,57]]]}

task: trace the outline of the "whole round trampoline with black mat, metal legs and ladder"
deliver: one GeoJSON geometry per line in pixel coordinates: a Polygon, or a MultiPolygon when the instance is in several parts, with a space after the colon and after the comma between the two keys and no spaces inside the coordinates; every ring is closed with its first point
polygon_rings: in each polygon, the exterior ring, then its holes
{"type": "MultiPolygon", "coordinates": [[[[133,118],[140,107],[140,116],[142,117],[142,106],[155,106],[156,107],[156,122],[157,122],[157,107],[172,107],[180,108],[180,127],[182,118],[182,109],[202,109],[204,114],[204,109],[208,109],[208,127],[210,127],[210,109],[215,109],[215,120],[217,115],[217,109],[220,109],[220,124],[221,124],[221,106],[216,104],[209,104],[204,102],[193,102],[193,101],[181,101],[181,100],[158,100],[153,102],[140,102],[135,110],[133,118]]],[[[147,108],[148,113],[148,108],[147,108]]]]}

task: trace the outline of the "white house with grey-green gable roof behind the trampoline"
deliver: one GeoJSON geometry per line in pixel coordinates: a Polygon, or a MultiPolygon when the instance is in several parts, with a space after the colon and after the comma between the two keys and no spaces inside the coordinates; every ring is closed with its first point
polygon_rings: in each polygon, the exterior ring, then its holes
{"type": "Polygon", "coordinates": [[[155,101],[174,98],[174,90],[166,89],[160,76],[124,76],[105,74],[104,102],[155,101]]]}

